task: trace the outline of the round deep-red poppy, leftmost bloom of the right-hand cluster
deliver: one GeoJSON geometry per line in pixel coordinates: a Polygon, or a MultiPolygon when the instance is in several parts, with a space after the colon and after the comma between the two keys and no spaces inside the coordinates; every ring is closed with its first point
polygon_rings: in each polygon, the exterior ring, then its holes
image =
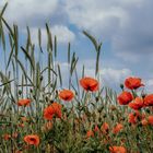
{"type": "Polygon", "coordinates": [[[117,97],[118,102],[120,105],[127,105],[129,104],[132,99],[133,96],[130,92],[126,92],[123,91],[118,97],[117,97]]]}

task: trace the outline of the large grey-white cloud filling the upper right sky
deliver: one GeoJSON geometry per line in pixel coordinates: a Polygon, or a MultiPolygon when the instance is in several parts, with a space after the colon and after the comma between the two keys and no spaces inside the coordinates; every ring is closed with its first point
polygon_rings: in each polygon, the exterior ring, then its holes
{"type": "Polygon", "coordinates": [[[138,62],[153,50],[152,4],[151,0],[67,0],[66,11],[79,28],[109,40],[116,56],[138,62]]]}

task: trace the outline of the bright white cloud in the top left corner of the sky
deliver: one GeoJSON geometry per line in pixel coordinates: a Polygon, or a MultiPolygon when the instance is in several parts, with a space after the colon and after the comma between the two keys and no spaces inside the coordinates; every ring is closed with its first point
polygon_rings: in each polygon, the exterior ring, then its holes
{"type": "Polygon", "coordinates": [[[10,23],[22,26],[48,21],[48,16],[54,16],[58,8],[58,0],[1,0],[0,5],[7,1],[5,17],[10,23]]]}

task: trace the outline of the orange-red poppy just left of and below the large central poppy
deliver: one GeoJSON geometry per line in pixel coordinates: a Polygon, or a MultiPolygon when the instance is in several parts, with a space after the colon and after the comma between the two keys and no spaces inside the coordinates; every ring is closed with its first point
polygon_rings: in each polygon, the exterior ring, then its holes
{"type": "Polygon", "coordinates": [[[59,98],[63,101],[71,101],[74,97],[74,94],[70,90],[62,90],[59,92],[59,98]]]}

